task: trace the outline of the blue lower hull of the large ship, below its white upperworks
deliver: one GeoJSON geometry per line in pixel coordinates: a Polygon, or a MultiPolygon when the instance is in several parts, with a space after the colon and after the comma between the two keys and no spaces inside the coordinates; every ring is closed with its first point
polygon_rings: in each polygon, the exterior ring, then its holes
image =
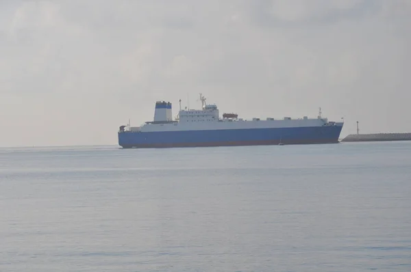
{"type": "Polygon", "coordinates": [[[343,126],[251,128],[214,131],[120,132],[123,148],[334,144],[343,126]]]}

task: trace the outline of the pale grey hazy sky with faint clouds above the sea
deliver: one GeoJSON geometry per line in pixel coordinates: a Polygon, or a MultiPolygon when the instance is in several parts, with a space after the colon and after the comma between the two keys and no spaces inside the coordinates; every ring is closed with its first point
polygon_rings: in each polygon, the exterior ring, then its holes
{"type": "Polygon", "coordinates": [[[155,100],[411,132],[410,0],[0,1],[0,146],[117,144],[155,100]]]}

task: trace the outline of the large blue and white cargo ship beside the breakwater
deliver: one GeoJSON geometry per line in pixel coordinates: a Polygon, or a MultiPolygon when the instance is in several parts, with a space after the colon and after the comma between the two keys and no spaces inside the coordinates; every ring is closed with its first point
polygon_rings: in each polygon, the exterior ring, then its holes
{"type": "Polygon", "coordinates": [[[243,120],[236,113],[220,117],[215,104],[207,104],[200,94],[201,109],[182,109],[173,119],[172,104],[155,103],[154,119],[141,126],[120,126],[122,148],[179,148],[210,146],[261,146],[288,144],[336,144],[344,122],[316,118],[252,118],[243,120]]]}

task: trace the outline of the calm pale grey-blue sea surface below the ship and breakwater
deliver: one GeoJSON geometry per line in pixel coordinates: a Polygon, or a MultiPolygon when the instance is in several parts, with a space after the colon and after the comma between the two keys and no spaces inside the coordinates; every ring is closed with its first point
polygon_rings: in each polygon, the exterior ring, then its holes
{"type": "Polygon", "coordinates": [[[0,148],[0,271],[411,271],[411,142],[0,148]]]}

